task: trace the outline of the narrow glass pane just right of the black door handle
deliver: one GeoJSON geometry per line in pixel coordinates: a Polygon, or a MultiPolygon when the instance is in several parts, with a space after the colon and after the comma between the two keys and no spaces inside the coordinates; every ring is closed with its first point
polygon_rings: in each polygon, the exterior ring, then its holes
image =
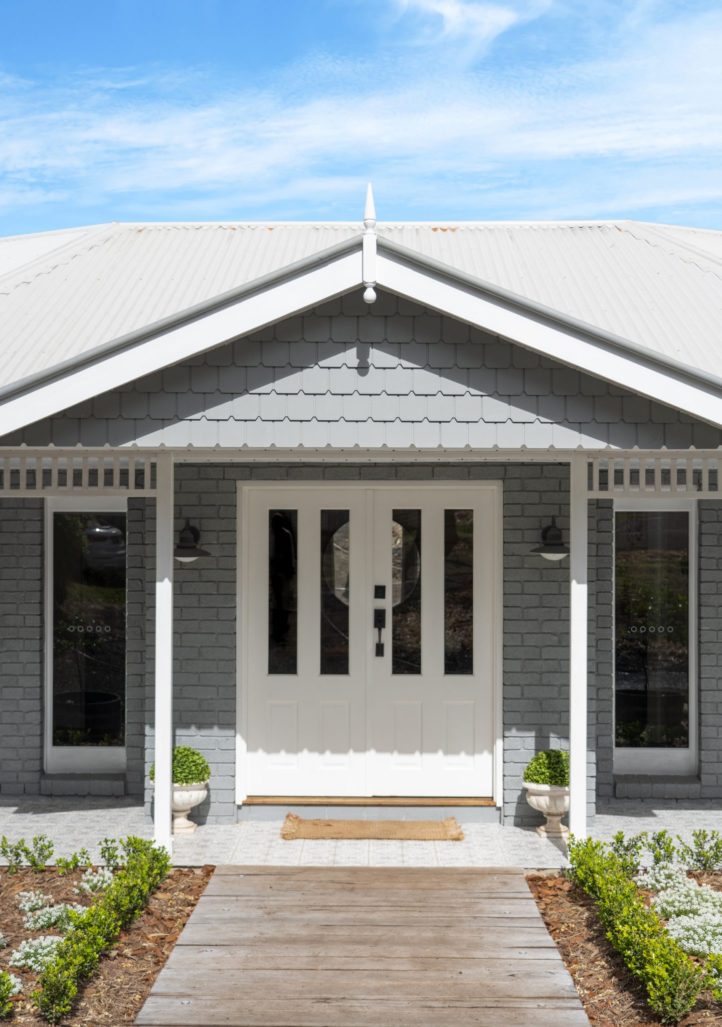
{"type": "Polygon", "coordinates": [[[421,674],[421,510],[393,510],[391,673],[421,674]]]}

